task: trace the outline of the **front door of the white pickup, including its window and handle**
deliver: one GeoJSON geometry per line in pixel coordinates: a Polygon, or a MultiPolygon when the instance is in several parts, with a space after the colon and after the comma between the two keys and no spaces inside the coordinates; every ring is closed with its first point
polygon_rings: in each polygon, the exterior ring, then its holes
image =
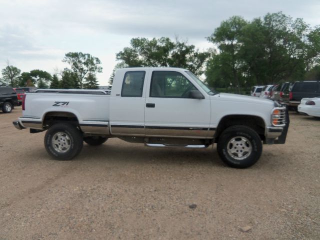
{"type": "MultiPolygon", "coordinates": [[[[210,99],[191,99],[197,88],[181,73],[153,71],[145,98],[145,135],[208,137],[210,99]]],[[[212,136],[211,136],[212,137],[212,136]]]]}

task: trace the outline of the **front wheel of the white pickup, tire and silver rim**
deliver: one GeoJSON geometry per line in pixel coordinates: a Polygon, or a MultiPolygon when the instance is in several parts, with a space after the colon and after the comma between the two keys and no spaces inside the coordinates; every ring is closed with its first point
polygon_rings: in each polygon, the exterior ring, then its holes
{"type": "Polygon", "coordinates": [[[259,135],[251,128],[234,125],[219,136],[217,152],[221,160],[234,168],[252,166],[260,158],[262,143],[259,135]]]}

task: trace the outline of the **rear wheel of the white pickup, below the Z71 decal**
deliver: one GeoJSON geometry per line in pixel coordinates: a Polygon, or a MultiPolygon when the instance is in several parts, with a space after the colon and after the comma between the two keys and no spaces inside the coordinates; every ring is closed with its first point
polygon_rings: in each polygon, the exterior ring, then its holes
{"type": "Polygon", "coordinates": [[[56,123],[46,131],[44,146],[56,160],[70,160],[82,149],[82,134],[74,125],[56,123]]]}

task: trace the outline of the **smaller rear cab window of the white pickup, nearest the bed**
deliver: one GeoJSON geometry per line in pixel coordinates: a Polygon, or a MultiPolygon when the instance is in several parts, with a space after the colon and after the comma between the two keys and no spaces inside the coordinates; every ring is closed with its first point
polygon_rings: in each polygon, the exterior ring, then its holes
{"type": "Polygon", "coordinates": [[[124,75],[121,97],[142,97],[144,71],[126,72],[124,75]]]}

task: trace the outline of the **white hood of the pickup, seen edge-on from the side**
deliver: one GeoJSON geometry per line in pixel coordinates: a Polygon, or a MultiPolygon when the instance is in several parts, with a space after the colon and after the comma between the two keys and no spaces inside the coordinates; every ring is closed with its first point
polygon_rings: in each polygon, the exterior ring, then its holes
{"type": "Polygon", "coordinates": [[[274,102],[270,99],[257,98],[252,96],[245,96],[232,93],[218,93],[214,96],[211,96],[211,99],[219,99],[220,101],[233,101],[233,102],[245,102],[245,103],[257,103],[264,105],[274,106],[274,102]]]}

